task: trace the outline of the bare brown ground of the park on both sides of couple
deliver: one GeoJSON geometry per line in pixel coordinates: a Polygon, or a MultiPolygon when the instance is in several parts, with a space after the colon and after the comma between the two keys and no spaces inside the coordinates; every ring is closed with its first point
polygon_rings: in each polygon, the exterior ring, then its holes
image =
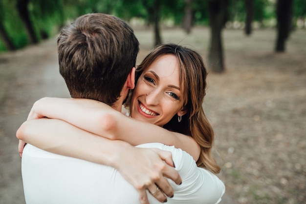
{"type": "MultiPolygon", "coordinates": [[[[152,32],[135,28],[138,62],[152,32]]],[[[163,29],[166,42],[207,56],[209,30],[163,29]]],[[[222,204],[306,203],[306,30],[294,31],[285,53],[274,53],[274,30],[223,32],[225,72],[209,73],[203,104],[216,136],[226,185],[222,204]]],[[[24,204],[16,130],[32,104],[68,97],[58,72],[55,39],[0,54],[0,204],[24,204]]]]}

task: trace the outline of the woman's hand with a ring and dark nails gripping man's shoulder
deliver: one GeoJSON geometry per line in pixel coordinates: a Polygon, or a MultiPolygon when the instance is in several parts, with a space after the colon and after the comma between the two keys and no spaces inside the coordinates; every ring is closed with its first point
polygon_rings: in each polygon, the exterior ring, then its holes
{"type": "Polygon", "coordinates": [[[149,204],[147,189],[162,203],[167,201],[167,197],[173,197],[174,190],[166,178],[176,184],[182,182],[173,168],[175,164],[171,152],[132,147],[119,152],[118,156],[121,162],[116,164],[116,168],[138,191],[141,204],[149,204]]]}

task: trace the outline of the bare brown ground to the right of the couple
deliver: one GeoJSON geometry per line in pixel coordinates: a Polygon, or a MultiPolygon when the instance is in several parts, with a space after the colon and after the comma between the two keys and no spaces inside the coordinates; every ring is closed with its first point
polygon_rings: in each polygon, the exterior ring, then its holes
{"type": "MultiPolygon", "coordinates": [[[[208,29],[186,36],[164,30],[165,41],[207,56],[208,29]]],[[[274,53],[274,30],[223,32],[226,71],[210,73],[204,110],[211,120],[221,179],[240,204],[306,203],[306,30],[292,32],[274,53]]],[[[146,34],[140,35],[146,43],[146,34]]]]}

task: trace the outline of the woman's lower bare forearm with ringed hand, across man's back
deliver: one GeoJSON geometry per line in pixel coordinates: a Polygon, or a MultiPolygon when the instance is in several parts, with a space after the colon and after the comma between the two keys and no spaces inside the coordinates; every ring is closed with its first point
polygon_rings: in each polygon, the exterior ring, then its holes
{"type": "MultiPolygon", "coordinates": [[[[172,167],[170,152],[136,148],[120,140],[111,141],[61,120],[28,120],[17,130],[16,136],[52,153],[116,168],[136,188],[142,201],[147,199],[146,189],[153,192],[156,184],[171,197],[173,188],[166,178],[181,183],[178,172],[172,167]]],[[[154,196],[161,202],[166,199],[163,194],[154,196]]]]}

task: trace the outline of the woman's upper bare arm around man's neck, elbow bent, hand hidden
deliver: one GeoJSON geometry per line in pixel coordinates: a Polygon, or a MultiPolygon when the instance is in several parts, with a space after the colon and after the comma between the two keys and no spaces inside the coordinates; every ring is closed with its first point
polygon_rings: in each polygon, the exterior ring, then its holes
{"type": "Polygon", "coordinates": [[[174,145],[188,152],[195,161],[199,157],[199,145],[192,137],[126,117],[102,102],[89,99],[43,98],[35,102],[29,119],[42,117],[60,119],[93,134],[111,140],[126,141],[132,145],[153,142],[174,145]]]}

